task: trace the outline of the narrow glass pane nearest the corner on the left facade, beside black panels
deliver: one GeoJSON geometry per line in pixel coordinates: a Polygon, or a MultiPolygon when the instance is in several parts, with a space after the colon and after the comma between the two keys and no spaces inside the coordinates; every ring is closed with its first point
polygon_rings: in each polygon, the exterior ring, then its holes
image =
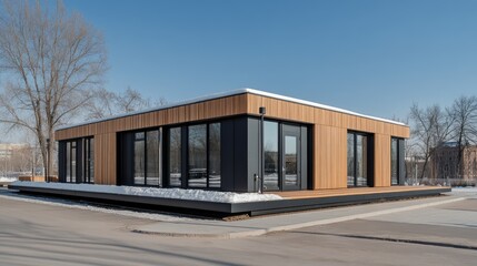
{"type": "Polygon", "coordinates": [[[209,187],[220,188],[220,123],[209,124],[209,187]]]}

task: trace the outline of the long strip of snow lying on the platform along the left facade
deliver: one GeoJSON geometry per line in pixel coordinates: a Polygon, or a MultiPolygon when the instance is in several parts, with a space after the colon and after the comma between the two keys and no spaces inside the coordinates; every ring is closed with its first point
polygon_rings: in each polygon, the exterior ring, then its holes
{"type": "Polygon", "coordinates": [[[157,187],[41,183],[41,182],[20,182],[20,181],[12,183],[12,185],[43,187],[43,188],[51,188],[51,190],[99,192],[99,193],[109,193],[109,194],[119,194],[119,195],[136,195],[136,196],[150,196],[150,197],[190,200],[190,201],[201,201],[201,202],[220,202],[220,203],[246,203],[246,202],[264,202],[264,201],[282,200],[282,197],[275,194],[233,193],[233,192],[216,192],[216,191],[182,190],[182,188],[157,188],[157,187]]]}

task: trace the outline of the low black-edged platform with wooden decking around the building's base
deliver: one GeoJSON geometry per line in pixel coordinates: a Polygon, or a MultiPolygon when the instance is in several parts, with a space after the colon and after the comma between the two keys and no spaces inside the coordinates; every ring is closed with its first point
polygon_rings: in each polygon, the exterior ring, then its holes
{"type": "Polygon", "coordinates": [[[88,201],[108,201],[118,204],[133,204],[136,206],[139,204],[142,207],[167,208],[167,211],[179,213],[195,212],[206,216],[231,216],[244,214],[256,216],[387,200],[433,196],[450,192],[450,187],[429,186],[365,187],[327,191],[280,192],[275,193],[284,197],[284,200],[279,201],[218,203],[137,195],[118,195],[97,192],[79,192],[73,190],[52,190],[21,185],[9,185],[9,188],[27,193],[41,193],[57,196],[87,198],[88,201]]]}

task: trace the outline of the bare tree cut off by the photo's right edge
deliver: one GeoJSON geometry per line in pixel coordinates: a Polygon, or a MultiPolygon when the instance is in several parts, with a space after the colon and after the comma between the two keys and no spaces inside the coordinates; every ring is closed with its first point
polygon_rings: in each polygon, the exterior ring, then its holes
{"type": "Polygon", "coordinates": [[[477,143],[477,98],[458,98],[448,109],[448,113],[453,117],[453,139],[456,141],[458,147],[457,162],[455,166],[456,168],[463,170],[460,164],[463,161],[464,149],[469,144],[477,143]]]}

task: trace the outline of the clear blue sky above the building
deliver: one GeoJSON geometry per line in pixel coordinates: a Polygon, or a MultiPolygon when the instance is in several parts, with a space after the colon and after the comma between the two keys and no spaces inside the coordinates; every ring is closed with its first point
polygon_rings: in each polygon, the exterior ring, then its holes
{"type": "Polygon", "coordinates": [[[64,0],[102,31],[106,88],[254,88],[381,117],[477,94],[477,1],[64,0]]]}

